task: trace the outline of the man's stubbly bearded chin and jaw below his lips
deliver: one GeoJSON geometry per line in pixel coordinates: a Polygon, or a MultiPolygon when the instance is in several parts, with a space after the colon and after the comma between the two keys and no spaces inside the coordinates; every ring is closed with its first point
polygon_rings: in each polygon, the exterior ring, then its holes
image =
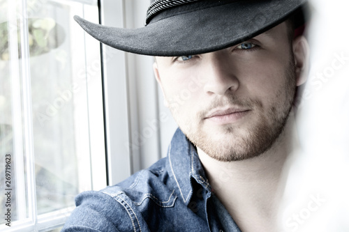
{"type": "Polygon", "coordinates": [[[224,125],[208,129],[187,137],[209,157],[221,162],[258,157],[272,147],[282,131],[282,127],[272,128],[265,121],[249,127],[224,125]]]}

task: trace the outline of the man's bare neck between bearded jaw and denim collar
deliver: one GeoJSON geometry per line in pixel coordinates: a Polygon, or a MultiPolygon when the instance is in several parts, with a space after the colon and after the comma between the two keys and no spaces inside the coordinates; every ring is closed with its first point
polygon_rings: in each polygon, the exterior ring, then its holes
{"type": "Polygon", "coordinates": [[[277,231],[277,210],[283,192],[281,173],[292,152],[293,114],[285,130],[266,153],[248,160],[219,162],[198,148],[213,192],[240,229],[277,231]]]}

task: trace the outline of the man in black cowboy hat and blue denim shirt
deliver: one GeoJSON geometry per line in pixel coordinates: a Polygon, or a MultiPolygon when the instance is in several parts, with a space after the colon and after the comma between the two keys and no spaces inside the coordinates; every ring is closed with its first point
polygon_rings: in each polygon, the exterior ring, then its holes
{"type": "Polygon", "coordinates": [[[75,17],[107,45],[156,56],[156,80],[180,129],[165,159],[77,196],[63,231],[280,231],[292,105],[306,77],[307,42],[294,34],[303,5],[158,0],[134,30],[75,17]],[[183,90],[191,98],[174,104],[183,90]]]}

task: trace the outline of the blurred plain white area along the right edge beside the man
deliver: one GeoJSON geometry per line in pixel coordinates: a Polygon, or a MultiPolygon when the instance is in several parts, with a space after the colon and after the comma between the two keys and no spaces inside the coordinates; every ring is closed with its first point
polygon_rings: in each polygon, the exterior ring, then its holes
{"type": "Polygon", "coordinates": [[[313,0],[311,69],[290,160],[284,231],[349,231],[349,30],[347,1],[313,0]]]}

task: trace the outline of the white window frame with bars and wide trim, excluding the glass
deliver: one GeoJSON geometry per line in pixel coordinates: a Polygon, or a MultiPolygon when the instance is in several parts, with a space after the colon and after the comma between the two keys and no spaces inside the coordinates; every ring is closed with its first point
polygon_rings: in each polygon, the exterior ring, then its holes
{"type": "MultiPolygon", "coordinates": [[[[16,4],[21,4],[22,12],[27,9],[28,0],[8,0],[10,4],[9,10],[15,12],[16,4]]],[[[50,0],[59,3],[84,3],[81,15],[90,22],[107,26],[117,26],[121,28],[135,28],[144,26],[145,11],[148,2],[144,0],[50,0]],[[91,13],[91,9],[98,6],[99,15],[91,13]]],[[[11,15],[11,22],[17,23],[16,14],[11,15]]],[[[70,15],[73,17],[73,15],[70,15]]],[[[21,181],[25,187],[27,182],[30,185],[28,202],[24,202],[24,208],[29,208],[29,217],[22,215],[18,221],[11,222],[11,227],[0,226],[3,231],[49,231],[59,226],[63,226],[74,207],[64,208],[54,212],[37,215],[36,210],[36,190],[35,190],[35,164],[34,160],[34,141],[31,115],[31,89],[30,89],[30,63],[29,63],[29,45],[28,45],[28,27],[27,19],[20,19],[21,35],[22,35],[22,79],[25,87],[25,117],[24,125],[22,119],[20,123],[16,123],[18,133],[22,136],[22,126],[25,128],[25,149],[29,153],[27,157],[28,179],[21,181]],[[25,76],[24,76],[25,75],[25,76]],[[25,78],[23,78],[25,77],[25,78]],[[29,205],[28,205],[29,204],[29,205]]],[[[78,24],[72,24],[72,30],[82,30],[78,24]]],[[[17,31],[11,35],[17,38],[17,31]]],[[[72,39],[73,36],[70,36],[72,39]]],[[[16,40],[17,41],[17,40],[16,40]]],[[[84,33],[85,47],[89,45],[98,45],[99,42],[84,33]]],[[[17,46],[16,42],[12,46],[17,46]]],[[[11,49],[15,51],[15,47],[11,49]]],[[[90,153],[90,160],[84,162],[84,165],[91,167],[91,190],[101,190],[107,185],[114,185],[121,180],[128,178],[132,173],[140,169],[150,166],[161,157],[165,156],[165,150],[174,130],[177,128],[176,123],[170,116],[170,111],[163,107],[163,96],[159,91],[158,84],[154,78],[151,56],[138,56],[135,54],[127,54],[117,49],[112,49],[105,45],[101,45],[100,49],[90,51],[86,50],[87,66],[89,63],[96,61],[96,56],[101,59],[101,67],[99,72],[94,74],[94,84],[87,84],[86,95],[88,99],[89,110],[89,140],[90,145],[87,150],[90,153]],[[96,55],[97,54],[97,55],[96,55]],[[117,74],[117,77],[115,77],[117,74]],[[103,75],[103,78],[102,78],[103,75]],[[96,96],[98,96],[96,98],[96,96]],[[103,102],[103,104],[101,104],[103,102]],[[98,110],[98,114],[96,113],[98,110]],[[94,116],[92,111],[94,112],[94,116]],[[170,120],[162,122],[159,120],[163,113],[169,116],[170,120]],[[149,121],[156,120],[156,127],[151,127],[151,137],[140,144],[138,139],[142,136],[142,132],[149,128],[149,121]],[[165,129],[164,129],[165,128],[165,129]],[[170,130],[169,130],[170,128],[170,130]]],[[[17,59],[17,64],[20,62],[17,59]]],[[[14,65],[17,65],[14,64],[14,65]]],[[[19,67],[17,65],[17,67],[19,67]]],[[[76,70],[75,70],[76,71],[76,70]]],[[[76,73],[73,70],[73,73],[76,73]]],[[[15,82],[20,83],[20,70],[16,70],[15,82]]],[[[12,78],[12,76],[11,76],[12,78]]],[[[17,85],[15,85],[17,86],[17,85]]],[[[20,86],[20,85],[18,85],[20,86]]],[[[14,89],[13,94],[20,93],[20,88],[14,89]]],[[[18,97],[17,97],[18,98],[18,97]]],[[[18,99],[21,100],[21,99],[18,99]]],[[[22,104],[22,102],[20,102],[22,104]]],[[[17,109],[18,110],[18,109],[17,109]]],[[[20,111],[22,109],[19,109],[20,111]]],[[[153,125],[154,126],[154,125],[153,125]]],[[[16,136],[16,135],[14,135],[16,136]]],[[[17,136],[17,137],[20,137],[17,136]]],[[[22,149],[21,146],[15,146],[15,149],[22,149]]],[[[18,159],[22,159],[23,153],[20,153],[18,159]]],[[[24,170],[17,169],[18,171],[24,170]]],[[[17,175],[20,176],[20,175],[17,175]]],[[[80,191],[81,192],[81,191],[80,191]]],[[[24,210],[25,212],[26,210],[24,210]]]]}

